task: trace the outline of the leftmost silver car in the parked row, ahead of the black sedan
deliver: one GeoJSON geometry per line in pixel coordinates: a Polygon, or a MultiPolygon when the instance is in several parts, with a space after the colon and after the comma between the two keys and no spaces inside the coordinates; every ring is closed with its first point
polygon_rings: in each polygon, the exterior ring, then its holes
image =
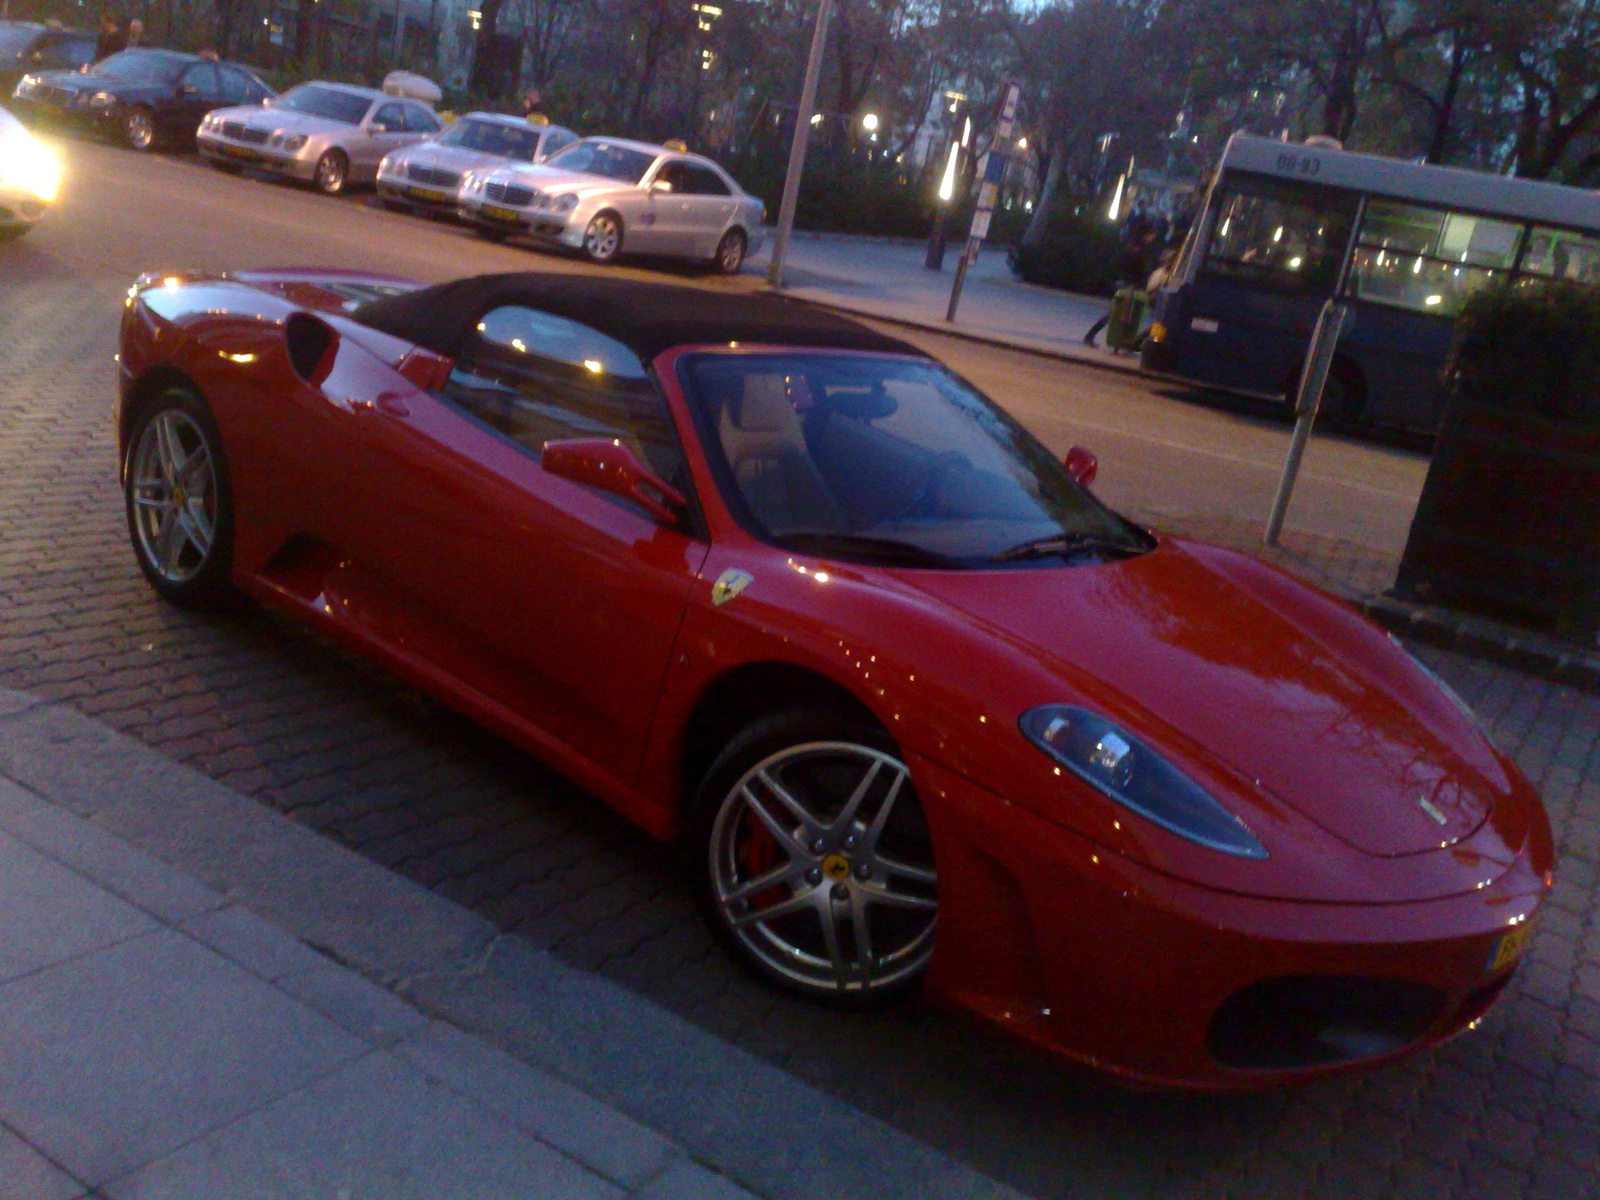
{"type": "Polygon", "coordinates": [[[213,112],[195,141],[224,170],[259,166],[336,195],[374,182],[386,154],[443,128],[414,99],[349,83],[301,83],[264,109],[213,112]]]}

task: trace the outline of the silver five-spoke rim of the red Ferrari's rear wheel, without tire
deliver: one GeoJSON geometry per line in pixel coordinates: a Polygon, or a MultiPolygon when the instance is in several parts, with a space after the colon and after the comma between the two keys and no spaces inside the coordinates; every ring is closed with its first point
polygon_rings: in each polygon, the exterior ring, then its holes
{"type": "Polygon", "coordinates": [[[139,435],[128,467],[139,554],[162,579],[200,574],[216,541],[216,458],[187,413],[168,408],[139,435]]]}

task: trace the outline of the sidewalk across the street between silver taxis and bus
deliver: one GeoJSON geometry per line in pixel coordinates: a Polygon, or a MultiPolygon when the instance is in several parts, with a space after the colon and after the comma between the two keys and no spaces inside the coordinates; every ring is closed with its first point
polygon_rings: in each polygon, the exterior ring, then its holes
{"type": "MultiPolygon", "coordinates": [[[[1083,334],[1110,307],[1109,301],[1022,283],[1006,266],[1003,246],[984,246],[962,285],[955,322],[946,322],[962,245],[949,245],[944,270],[928,270],[926,243],[795,232],[786,258],[784,294],[958,338],[1120,371],[1139,370],[1133,355],[1083,344],[1083,334]]],[[[765,270],[770,253],[768,248],[752,256],[749,270],[765,270]]]]}

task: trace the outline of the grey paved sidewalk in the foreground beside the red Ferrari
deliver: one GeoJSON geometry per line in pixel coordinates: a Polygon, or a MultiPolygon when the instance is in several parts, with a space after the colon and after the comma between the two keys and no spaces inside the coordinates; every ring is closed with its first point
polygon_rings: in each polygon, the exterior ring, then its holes
{"type": "Polygon", "coordinates": [[[1013,1195],[14,691],[0,1048],[0,1200],[1013,1195]]]}

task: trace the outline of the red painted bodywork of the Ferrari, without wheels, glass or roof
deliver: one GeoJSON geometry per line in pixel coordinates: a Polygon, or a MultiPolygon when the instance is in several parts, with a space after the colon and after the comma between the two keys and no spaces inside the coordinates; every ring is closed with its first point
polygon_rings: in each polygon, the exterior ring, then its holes
{"type": "Polygon", "coordinates": [[[704,509],[707,536],[690,538],[454,413],[429,390],[448,362],[341,315],[382,285],[403,282],[245,272],[130,291],[125,456],[155,386],[205,397],[250,595],[658,838],[682,834],[722,710],[806,680],[850,693],[926,811],[928,994],[1130,1080],[1238,1088],[1365,1066],[1461,1032],[1510,976],[1550,886],[1539,798],[1346,605],[1166,538],[1128,562],[1011,573],[770,546],[718,491],[675,370],[696,347],[680,346],[653,368],[704,509]],[[318,386],[285,354],[302,310],[339,334],[318,386]],[[730,568],[754,582],[715,603],[730,568]],[[1042,704],[1136,730],[1270,854],[1242,862],[1106,803],[1019,734],[1042,704]],[[1280,1061],[1278,1030],[1330,1019],[1349,1026],[1342,1061],[1280,1061]]]}

